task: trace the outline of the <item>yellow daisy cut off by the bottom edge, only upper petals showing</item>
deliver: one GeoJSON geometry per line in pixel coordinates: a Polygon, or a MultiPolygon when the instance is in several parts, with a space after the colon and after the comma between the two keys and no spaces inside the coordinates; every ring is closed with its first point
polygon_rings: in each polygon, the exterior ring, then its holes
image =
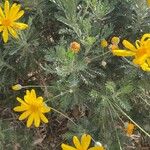
{"type": "Polygon", "coordinates": [[[62,150],[104,150],[102,146],[94,146],[88,149],[90,143],[91,143],[91,136],[87,134],[83,134],[81,137],[81,142],[79,139],[74,136],[73,137],[73,143],[75,145],[75,148],[66,144],[62,144],[62,150]]]}

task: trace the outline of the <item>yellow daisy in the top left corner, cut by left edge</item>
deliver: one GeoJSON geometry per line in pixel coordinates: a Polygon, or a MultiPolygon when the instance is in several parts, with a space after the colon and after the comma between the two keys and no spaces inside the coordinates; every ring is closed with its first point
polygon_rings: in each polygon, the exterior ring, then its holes
{"type": "Polygon", "coordinates": [[[27,24],[16,22],[24,15],[24,11],[20,10],[21,5],[14,3],[11,7],[9,1],[6,0],[4,4],[4,11],[0,7],[0,32],[4,42],[8,41],[9,33],[18,38],[17,30],[24,30],[28,27],[27,24]]]}

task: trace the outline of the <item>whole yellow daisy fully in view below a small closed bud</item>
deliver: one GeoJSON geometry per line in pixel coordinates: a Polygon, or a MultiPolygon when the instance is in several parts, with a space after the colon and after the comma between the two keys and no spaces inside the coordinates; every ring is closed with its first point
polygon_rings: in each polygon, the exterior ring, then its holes
{"type": "Polygon", "coordinates": [[[45,117],[44,113],[50,111],[50,108],[43,102],[42,97],[36,97],[35,90],[32,89],[31,92],[26,90],[26,95],[24,100],[17,97],[17,100],[21,103],[20,106],[14,108],[16,112],[23,112],[19,120],[27,120],[27,127],[30,127],[33,123],[35,127],[40,126],[40,121],[48,123],[48,119],[45,117]]]}

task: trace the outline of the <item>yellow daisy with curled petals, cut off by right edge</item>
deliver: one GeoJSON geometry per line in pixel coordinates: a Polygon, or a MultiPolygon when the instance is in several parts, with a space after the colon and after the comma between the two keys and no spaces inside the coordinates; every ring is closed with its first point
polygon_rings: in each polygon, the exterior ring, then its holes
{"type": "Polygon", "coordinates": [[[139,65],[144,71],[150,71],[150,34],[144,34],[141,40],[136,40],[135,46],[129,41],[124,40],[125,48],[112,50],[116,56],[132,56],[133,63],[139,65]]]}

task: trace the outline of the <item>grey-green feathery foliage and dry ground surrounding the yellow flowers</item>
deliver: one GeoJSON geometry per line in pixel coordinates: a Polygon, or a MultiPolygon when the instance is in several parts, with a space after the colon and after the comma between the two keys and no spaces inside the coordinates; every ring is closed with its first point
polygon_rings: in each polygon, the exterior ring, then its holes
{"type": "Polygon", "coordinates": [[[100,46],[104,38],[134,42],[149,33],[146,1],[12,2],[21,3],[30,27],[19,40],[0,39],[0,149],[59,150],[72,136],[89,133],[108,150],[148,150],[150,74],[100,46]],[[81,44],[74,57],[68,53],[73,41],[81,44]],[[11,89],[17,83],[36,89],[77,125],[51,111],[49,124],[28,129],[13,112],[16,96],[25,93],[11,89]],[[130,121],[138,125],[132,138],[124,131],[130,121]]]}

